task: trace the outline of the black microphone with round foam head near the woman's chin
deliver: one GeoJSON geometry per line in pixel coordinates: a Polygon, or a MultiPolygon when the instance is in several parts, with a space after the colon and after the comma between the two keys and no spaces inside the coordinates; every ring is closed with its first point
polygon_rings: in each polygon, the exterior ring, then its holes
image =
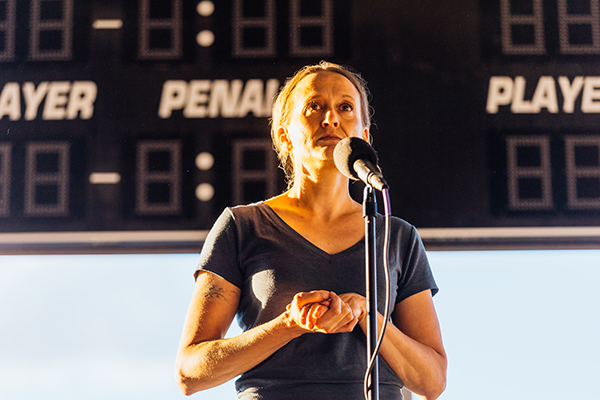
{"type": "Polygon", "coordinates": [[[382,191],[389,188],[377,168],[377,153],[371,145],[357,137],[341,140],[333,150],[333,161],[342,174],[352,180],[361,180],[382,191]]]}

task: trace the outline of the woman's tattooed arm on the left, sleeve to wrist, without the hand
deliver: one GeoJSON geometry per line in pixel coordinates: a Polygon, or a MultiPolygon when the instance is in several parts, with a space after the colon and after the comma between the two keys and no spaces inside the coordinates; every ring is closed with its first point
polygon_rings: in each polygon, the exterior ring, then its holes
{"type": "Polygon", "coordinates": [[[185,395],[235,378],[301,334],[278,317],[224,339],[239,299],[240,289],[225,279],[206,272],[198,275],[175,363],[177,383],[185,395]]]}

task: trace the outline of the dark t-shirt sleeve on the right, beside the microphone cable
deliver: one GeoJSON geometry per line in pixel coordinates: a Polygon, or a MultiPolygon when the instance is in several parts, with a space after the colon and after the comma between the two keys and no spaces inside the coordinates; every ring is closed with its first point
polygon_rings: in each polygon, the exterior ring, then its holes
{"type": "Polygon", "coordinates": [[[421,237],[412,226],[406,234],[409,240],[402,251],[402,273],[399,275],[396,304],[423,290],[430,289],[432,295],[438,292],[421,237]]]}

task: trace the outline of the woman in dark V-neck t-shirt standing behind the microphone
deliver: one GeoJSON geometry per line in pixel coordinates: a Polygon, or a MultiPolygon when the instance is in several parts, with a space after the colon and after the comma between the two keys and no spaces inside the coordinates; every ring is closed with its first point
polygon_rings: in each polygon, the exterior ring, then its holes
{"type": "MultiPolygon", "coordinates": [[[[346,137],[369,140],[368,110],[362,78],[326,62],[303,68],[279,93],[271,133],[289,189],[226,209],[211,230],[176,361],[186,395],[241,374],[241,399],[363,398],[364,220],[333,150],[346,137]],[[243,333],[224,339],[236,314],[243,333]]],[[[446,380],[437,287],[415,229],[397,218],[390,274],[380,397],[401,399],[404,385],[435,399],[446,380]]],[[[383,300],[379,307],[381,327],[383,300]]]]}

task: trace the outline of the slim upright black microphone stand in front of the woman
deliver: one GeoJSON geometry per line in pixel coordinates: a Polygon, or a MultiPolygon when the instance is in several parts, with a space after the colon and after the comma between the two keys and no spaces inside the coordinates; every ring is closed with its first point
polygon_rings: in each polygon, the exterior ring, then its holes
{"type": "MultiPolygon", "coordinates": [[[[377,256],[375,217],[377,200],[375,190],[366,185],[363,190],[363,217],[365,218],[365,276],[367,298],[367,365],[377,347],[377,256]]],[[[375,356],[368,380],[367,399],[379,400],[379,356],[375,356]]]]}

